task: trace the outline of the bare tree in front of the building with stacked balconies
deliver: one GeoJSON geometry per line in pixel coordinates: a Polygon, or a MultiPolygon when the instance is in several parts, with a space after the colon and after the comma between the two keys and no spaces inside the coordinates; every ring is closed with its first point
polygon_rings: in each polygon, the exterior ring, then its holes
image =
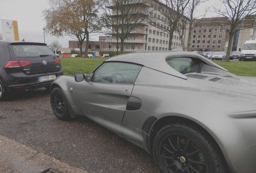
{"type": "MultiPolygon", "coordinates": [[[[145,30],[148,6],[145,0],[105,0],[103,20],[111,33],[120,39],[121,54],[124,50],[124,40],[132,33],[141,33],[145,30]]],[[[118,47],[117,47],[118,50],[118,47]]]]}

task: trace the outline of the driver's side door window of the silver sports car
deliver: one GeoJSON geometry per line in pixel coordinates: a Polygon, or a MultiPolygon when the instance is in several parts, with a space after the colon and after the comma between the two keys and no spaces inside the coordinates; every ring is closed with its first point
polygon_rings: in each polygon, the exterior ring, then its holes
{"type": "Polygon", "coordinates": [[[105,62],[94,72],[92,82],[134,83],[142,66],[124,62],[105,62]]]}

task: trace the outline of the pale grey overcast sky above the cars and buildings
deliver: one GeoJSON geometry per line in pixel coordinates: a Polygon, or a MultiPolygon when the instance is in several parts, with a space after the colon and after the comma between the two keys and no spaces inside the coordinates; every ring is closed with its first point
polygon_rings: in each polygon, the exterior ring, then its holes
{"type": "MultiPolygon", "coordinates": [[[[211,0],[218,2],[218,0],[211,0]]],[[[210,6],[209,2],[201,5],[201,9],[210,6]]],[[[19,39],[33,42],[44,42],[42,11],[50,8],[48,0],[0,0],[0,19],[16,20],[18,22],[19,39]]],[[[212,17],[209,13],[206,17],[212,17]]],[[[2,30],[0,27],[0,33],[2,30]]],[[[68,48],[68,40],[72,38],[64,36],[61,38],[53,37],[45,33],[45,43],[51,44],[54,40],[58,40],[63,48],[68,48]]],[[[90,40],[98,40],[98,37],[90,38],[90,40]]]]}

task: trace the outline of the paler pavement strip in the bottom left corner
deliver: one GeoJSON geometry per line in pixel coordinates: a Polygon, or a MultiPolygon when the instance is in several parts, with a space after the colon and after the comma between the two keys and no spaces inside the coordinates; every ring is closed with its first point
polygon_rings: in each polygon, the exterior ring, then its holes
{"type": "Polygon", "coordinates": [[[41,173],[49,168],[59,173],[88,173],[2,135],[0,153],[1,173],[41,173]]]}

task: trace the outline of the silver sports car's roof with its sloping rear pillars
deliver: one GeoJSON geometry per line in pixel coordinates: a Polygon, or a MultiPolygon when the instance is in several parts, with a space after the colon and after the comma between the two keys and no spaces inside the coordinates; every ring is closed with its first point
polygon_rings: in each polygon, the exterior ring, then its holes
{"type": "Polygon", "coordinates": [[[176,71],[175,69],[171,68],[166,60],[168,58],[184,58],[184,57],[194,57],[198,58],[200,60],[203,60],[205,64],[215,66],[216,68],[219,68],[221,70],[227,71],[225,68],[213,63],[212,61],[208,60],[207,58],[192,52],[172,52],[172,51],[161,51],[161,52],[136,52],[136,53],[128,53],[128,54],[122,54],[113,56],[106,61],[120,61],[120,62],[131,62],[136,64],[141,64],[144,66],[147,66],[149,68],[153,68],[155,70],[171,74],[174,76],[178,76],[181,78],[187,79],[187,76],[184,74],[176,71]]]}

